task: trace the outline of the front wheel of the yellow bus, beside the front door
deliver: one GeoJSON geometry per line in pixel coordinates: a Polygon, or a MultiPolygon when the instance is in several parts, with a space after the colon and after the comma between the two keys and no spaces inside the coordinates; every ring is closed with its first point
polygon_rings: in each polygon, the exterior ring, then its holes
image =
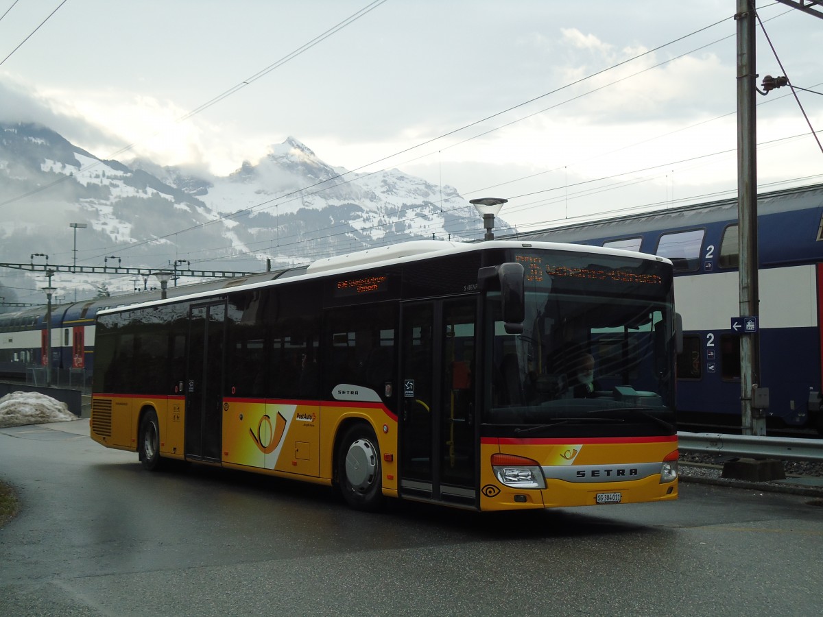
{"type": "Polygon", "coordinates": [[[346,503],[356,510],[374,512],[383,505],[380,448],[369,424],[346,429],[337,449],[337,485],[346,503]]]}

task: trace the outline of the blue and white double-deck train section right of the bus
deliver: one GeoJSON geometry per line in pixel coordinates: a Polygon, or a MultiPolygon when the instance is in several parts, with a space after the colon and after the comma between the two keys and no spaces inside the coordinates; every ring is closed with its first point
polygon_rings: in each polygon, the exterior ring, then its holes
{"type": "MultiPolygon", "coordinates": [[[[816,427],[823,348],[823,184],[758,198],[760,386],[770,424],[816,427]]],[[[684,350],[677,359],[681,420],[740,425],[737,198],[518,234],[625,248],[675,265],[684,350]],[[736,416],[736,417],[735,417],[736,416]]]]}

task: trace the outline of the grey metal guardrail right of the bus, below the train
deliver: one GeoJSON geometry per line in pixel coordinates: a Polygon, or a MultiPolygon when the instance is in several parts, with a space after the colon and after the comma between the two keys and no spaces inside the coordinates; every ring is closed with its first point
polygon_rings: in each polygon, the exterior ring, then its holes
{"type": "Polygon", "coordinates": [[[683,452],[702,454],[823,462],[823,440],[821,439],[678,431],[677,447],[683,452]]]}

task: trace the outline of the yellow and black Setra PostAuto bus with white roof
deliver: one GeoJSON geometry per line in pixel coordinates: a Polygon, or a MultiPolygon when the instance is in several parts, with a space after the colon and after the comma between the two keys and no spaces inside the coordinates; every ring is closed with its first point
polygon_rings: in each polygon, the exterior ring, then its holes
{"type": "Polygon", "coordinates": [[[479,511],[677,499],[672,264],[434,240],[100,311],[91,437],[479,511]]]}

